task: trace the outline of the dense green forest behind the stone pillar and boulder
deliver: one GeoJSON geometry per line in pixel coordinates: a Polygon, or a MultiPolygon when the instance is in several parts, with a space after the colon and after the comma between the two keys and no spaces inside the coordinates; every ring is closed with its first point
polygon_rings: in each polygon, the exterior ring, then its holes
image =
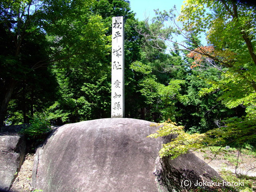
{"type": "Polygon", "coordinates": [[[110,118],[111,24],[124,16],[126,118],[255,146],[255,6],[187,0],[175,13],[138,21],[128,0],[2,0],[0,125],[110,118]]]}

